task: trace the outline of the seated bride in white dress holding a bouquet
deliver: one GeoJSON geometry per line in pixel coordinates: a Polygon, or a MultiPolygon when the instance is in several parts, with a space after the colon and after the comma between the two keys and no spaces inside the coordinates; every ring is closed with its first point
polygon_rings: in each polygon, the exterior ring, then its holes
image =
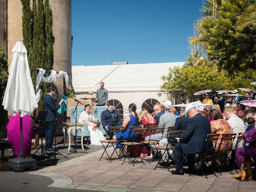
{"type": "Polygon", "coordinates": [[[78,122],[88,125],[91,145],[102,145],[99,140],[106,140],[106,138],[103,135],[102,129],[100,127],[96,127],[96,124],[93,124],[95,118],[90,112],[90,109],[90,104],[86,104],[84,106],[84,111],[80,114],[78,122]]]}

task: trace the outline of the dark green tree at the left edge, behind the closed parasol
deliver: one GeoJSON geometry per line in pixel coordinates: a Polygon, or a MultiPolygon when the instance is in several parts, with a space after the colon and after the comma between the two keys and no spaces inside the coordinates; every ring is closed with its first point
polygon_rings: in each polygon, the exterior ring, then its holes
{"type": "Polygon", "coordinates": [[[4,110],[2,102],[4,99],[4,92],[8,81],[8,60],[4,52],[4,48],[0,47],[0,127],[7,121],[7,111],[4,110]]]}

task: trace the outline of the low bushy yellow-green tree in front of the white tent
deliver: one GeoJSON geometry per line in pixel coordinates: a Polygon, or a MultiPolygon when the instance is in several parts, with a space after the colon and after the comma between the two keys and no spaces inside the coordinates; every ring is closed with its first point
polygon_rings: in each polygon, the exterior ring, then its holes
{"type": "Polygon", "coordinates": [[[213,92],[220,89],[229,89],[230,79],[217,66],[206,59],[200,61],[198,66],[185,64],[182,68],[170,68],[161,86],[161,94],[181,94],[183,99],[195,98],[193,94],[200,90],[210,89],[213,92]]]}

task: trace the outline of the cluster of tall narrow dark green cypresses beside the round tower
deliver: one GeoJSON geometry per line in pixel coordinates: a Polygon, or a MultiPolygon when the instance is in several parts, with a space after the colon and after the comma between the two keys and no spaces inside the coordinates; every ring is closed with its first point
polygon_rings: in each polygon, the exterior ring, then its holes
{"type": "MultiPolygon", "coordinates": [[[[52,70],[53,66],[53,44],[52,35],[52,10],[49,0],[33,0],[32,10],[30,9],[30,0],[21,0],[22,2],[22,32],[25,46],[31,50],[28,55],[30,68],[43,68],[52,70]],[[30,22],[29,22],[30,21],[30,22]],[[29,25],[30,23],[30,25],[29,25]]],[[[31,72],[34,87],[36,87],[36,72],[31,72]]],[[[40,110],[44,110],[43,97],[47,93],[48,83],[41,82],[40,110]]]]}

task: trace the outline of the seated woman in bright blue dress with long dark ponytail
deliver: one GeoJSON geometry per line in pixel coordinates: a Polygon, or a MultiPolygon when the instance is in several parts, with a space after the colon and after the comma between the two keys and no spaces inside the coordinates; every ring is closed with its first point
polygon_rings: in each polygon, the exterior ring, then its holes
{"type": "MultiPolygon", "coordinates": [[[[136,141],[138,139],[138,134],[130,134],[129,136],[129,129],[130,126],[139,126],[140,125],[140,118],[138,114],[136,113],[137,106],[136,104],[132,103],[129,105],[129,112],[130,115],[126,116],[123,122],[123,131],[122,134],[121,132],[117,133],[116,135],[113,136],[113,140],[119,140],[121,137],[121,140],[128,140],[129,141],[136,141]]],[[[121,153],[123,148],[120,142],[116,143],[116,148],[119,148],[119,152],[121,153]]]]}

